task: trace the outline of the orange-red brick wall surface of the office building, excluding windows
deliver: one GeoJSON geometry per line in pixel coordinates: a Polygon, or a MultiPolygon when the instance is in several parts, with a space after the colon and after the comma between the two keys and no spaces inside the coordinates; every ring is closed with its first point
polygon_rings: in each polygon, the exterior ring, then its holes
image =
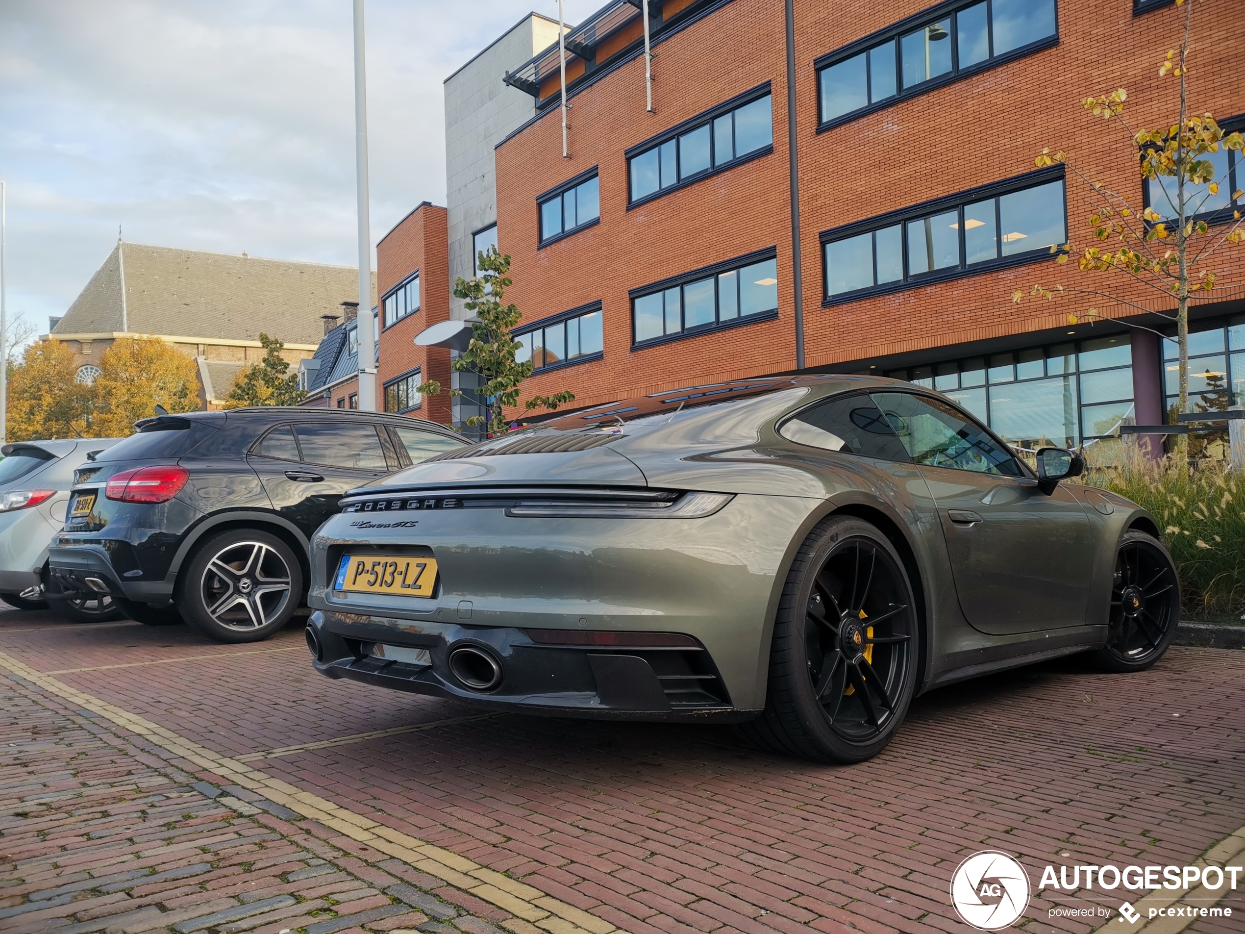
{"type": "MultiPolygon", "coordinates": [[[[1160,81],[1157,70],[1179,41],[1184,7],[1134,16],[1132,0],[1064,0],[1058,45],[817,133],[814,59],[928,7],[923,0],[796,4],[806,366],[1058,328],[1091,306],[1104,316],[1138,311],[1096,296],[1012,304],[1013,290],[1038,281],[1109,289],[1147,309],[1170,308],[1162,294],[1122,275],[1083,274],[1052,260],[822,306],[820,230],[1023,174],[1043,146],[1066,149],[1139,210],[1127,136],[1083,111],[1079,100],[1123,86],[1134,125],[1162,126],[1175,112],[1177,83],[1160,81]]],[[[1240,0],[1199,4],[1190,70],[1195,112],[1245,112],[1235,67],[1243,40],[1240,0]]],[[[575,406],[593,405],[796,366],[784,41],[781,0],[733,0],[655,46],[656,113],[645,112],[640,56],[571,97],[570,158],[561,157],[557,107],[498,147],[498,239],[513,258],[509,298],[524,320],[594,300],[604,310],[604,360],[533,376],[528,394],[571,389],[575,406]],[[773,88],[772,154],[626,209],[624,149],[764,81],[773,88]],[[539,249],[537,194],[593,166],[600,173],[600,223],[539,249]],[[778,250],[777,320],[631,350],[629,289],[764,247],[778,250]]],[[[1069,173],[1067,191],[1069,232],[1082,244],[1086,189],[1069,173]]],[[[1221,284],[1241,283],[1245,249],[1229,248],[1215,265],[1221,284]]]]}

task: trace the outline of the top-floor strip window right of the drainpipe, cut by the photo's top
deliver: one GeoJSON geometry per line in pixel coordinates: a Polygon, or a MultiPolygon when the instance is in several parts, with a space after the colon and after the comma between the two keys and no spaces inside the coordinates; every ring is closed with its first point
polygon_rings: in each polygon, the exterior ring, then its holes
{"type": "Polygon", "coordinates": [[[823,125],[918,93],[934,78],[952,78],[1008,52],[1048,44],[1057,35],[1055,0],[970,1],[915,29],[880,35],[863,51],[830,52],[815,62],[823,125]]]}

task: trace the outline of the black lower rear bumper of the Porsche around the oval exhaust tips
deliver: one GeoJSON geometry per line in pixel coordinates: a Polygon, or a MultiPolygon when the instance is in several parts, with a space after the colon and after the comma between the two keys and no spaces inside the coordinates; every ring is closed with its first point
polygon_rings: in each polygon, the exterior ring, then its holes
{"type": "Polygon", "coordinates": [[[311,614],[316,671],[435,697],[452,697],[496,710],[545,716],[605,720],[751,720],[759,711],[738,710],[708,653],[692,648],[549,645],[525,630],[464,626],[385,616],[311,614]],[[377,658],[372,645],[423,650],[423,661],[377,658]],[[473,690],[451,666],[462,648],[489,655],[500,669],[492,690],[473,690]]]}

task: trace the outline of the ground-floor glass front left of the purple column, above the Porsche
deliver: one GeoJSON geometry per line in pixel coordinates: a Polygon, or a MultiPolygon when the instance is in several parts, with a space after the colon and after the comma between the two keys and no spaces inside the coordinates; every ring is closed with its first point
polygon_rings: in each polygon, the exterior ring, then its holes
{"type": "Polygon", "coordinates": [[[886,375],[945,394],[1021,448],[1076,447],[1118,436],[1119,426],[1133,421],[1133,349],[1127,334],[886,375]]]}

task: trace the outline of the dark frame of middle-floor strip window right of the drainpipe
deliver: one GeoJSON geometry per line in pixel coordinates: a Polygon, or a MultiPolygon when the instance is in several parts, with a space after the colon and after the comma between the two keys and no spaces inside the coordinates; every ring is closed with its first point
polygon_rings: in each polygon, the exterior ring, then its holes
{"type": "MultiPolygon", "coordinates": [[[[852,291],[840,291],[835,295],[829,294],[829,269],[825,262],[825,247],[829,243],[837,243],[839,240],[847,240],[853,237],[858,237],[864,233],[873,233],[875,230],[881,230],[888,227],[894,227],[895,224],[904,224],[909,220],[918,220],[931,214],[937,214],[945,210],[962,210],[967,204],[974,202],[985,200],[986,198],[1000,198],[1005,194],[1011,194],[1013,192],[1025,191],[1026,188],[1035,188],[1041,184],[1048,184],[1050,182],[1063,182],[1063,233],[1068,233],[1068,207],[1067,207],[1067,178],[1064,176],[1064,167],[1062,164],[1051,166],[1047,168],[1040,168],[1035,172],[1026,172],[1022,176],[1013,176],[1012,178],[1005,178],[1000,182],[990,182],[989,184],[977,186],[976,188],[969,188],[962,192],[956,192],[955,194],[946,194],[940,198],[934,198],[931,200],[923,202],[920,204],[913,204],[911,207],[900,208],[899,210],[891,210],[885,214],[875,214],[872,218],[865,218],[864,220],[857,220],[850,224],[844,224],[843,227],[830,228],[829,230],[822,230],[818,234],[818,243],[820,244],[822,252],[822,308],[832,308],[834,305],[843,305],[848,301],[857,301],[863,298],[872,298],[874,295],[888,295],[895,291],[905,291],[908,289],[919,289],[924,285],[931,285],[934,283],[944,283],[951,279],[962,279],[970,275],[980,275],[982,273],[994,273],[1000,269],[1010,269],[1011,267],[1026,265],[1028,263],[1040,263],[1045,259],[1055,259],[1059,255],[1062,250],[1056,250],[1052,253],[1050,247],[1038,247],[1032,250],[1026,250],[1023,253],[1016,253],[1010,257],[998,257],[996,259],[987,259],[980,263],[967,264],[965,263],[965,245],[964,245],[964,220],[961,213],[961,220],[959,225],[959,242],[960,242],[960,262],[954,267],[944,267],[941,269],[935,269],[929,273],[918,273],[915,275],[909,275],[905,279],[899,279],[891,283],[883,283],[880,285],[870,285],[864,289],[853,289],[852,291]]],[[[995,208],[997,217],[997,205],[995,208]]],[[[996,222],[997,229],[997,222],[996,222]]],[[[908,238],[901,235],[900,244],[903,249],[904,269],[908,269],[908,238]]],[[[874,259],[876,264],[876,258],[874,259]]]]}

